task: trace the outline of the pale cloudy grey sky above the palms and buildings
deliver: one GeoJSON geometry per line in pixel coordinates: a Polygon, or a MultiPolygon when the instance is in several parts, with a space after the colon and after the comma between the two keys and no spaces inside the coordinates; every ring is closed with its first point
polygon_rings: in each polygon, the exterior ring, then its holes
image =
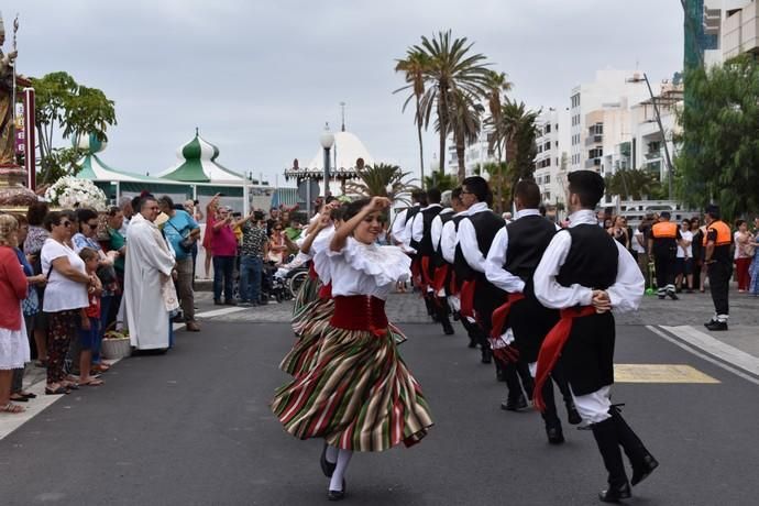
{"type": "MultiPolygon", "coordinates": [[[[195,128],[238,172],[308,163],[326,121],[378,161],[418,169],[413,112],[395,58],[452,29],[508,74],[529,107],[566,107],[600,68],[651,80],[682,66],[676,0],[4,0],[20,14],[19,72],[65,70],[116,101],[103,160],[155,174],[195,128]]],[[[6,50],[10,45],[6,44],[6,50]]],[[[437,151],[426,135],[427,165],[437,151]]],[[[284,178],[279,177],[279,183],[284,178]]]]}

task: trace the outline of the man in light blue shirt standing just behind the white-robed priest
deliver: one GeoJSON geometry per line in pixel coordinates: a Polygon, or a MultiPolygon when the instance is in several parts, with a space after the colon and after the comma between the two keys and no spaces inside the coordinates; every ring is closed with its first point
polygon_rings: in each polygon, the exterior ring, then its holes
{"type": "Polygon", "coordinates": [[[177,296],[186,329],[199,332],[200,326],[195,321],[195,293],[193,292],[193,246],[200,237],[200,227],[184,209],[176,209],[167,195],[158,199],[161,212],[168,216],[163,224],[166,239],[172,243],[177,262],[177,296]]]}

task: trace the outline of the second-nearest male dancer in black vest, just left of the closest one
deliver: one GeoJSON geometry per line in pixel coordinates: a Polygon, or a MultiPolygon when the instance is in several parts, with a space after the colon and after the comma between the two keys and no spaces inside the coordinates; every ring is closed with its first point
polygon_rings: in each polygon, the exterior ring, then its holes
{"type": "MultiPolygon", "coordinates": [[[[543,307],[535,298],[532,274],[559,229],[540,215],[540,188],[535,182],[519,182],[514,200],[517,208],[516,220],[498,231],[487,254],[487,280],[509,294],[508,307],[502,306],[503,309],[498,308],[494,314],[494,326],[496,320],[502,320],[503,324],[494,329],[492,336],[501,336],[502,331],[510,328],[519,351],[519,361],[529,364],[530,372],[535,375],[540,344],[559,321],[559,311],[543,307]],[[508,310],[508,315],[502,318],[495,316],[504,309],[508,310]]],[[[558,366],[553,369],[551,377],[564,395],[570,424],[580,424],[582,420],[574,408],[566,380],[560,374],[558,366]]],[[[542,396],[546,403],[542,416],[548,442],[561,444],[564,436],[557,415],[551,382],[543,385],[542,396]]]]}

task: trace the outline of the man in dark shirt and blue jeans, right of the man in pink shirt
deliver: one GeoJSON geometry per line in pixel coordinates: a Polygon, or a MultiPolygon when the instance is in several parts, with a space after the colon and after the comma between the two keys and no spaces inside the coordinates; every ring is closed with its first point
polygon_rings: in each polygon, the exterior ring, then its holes
{"type": "Polygon", "coordinates": [[[263,211],[251,211],[234,223],[242,230],[240,251],[240,306],[257,306],[261,300],[261,276],[268,253],[268,238],[263,211]]]}

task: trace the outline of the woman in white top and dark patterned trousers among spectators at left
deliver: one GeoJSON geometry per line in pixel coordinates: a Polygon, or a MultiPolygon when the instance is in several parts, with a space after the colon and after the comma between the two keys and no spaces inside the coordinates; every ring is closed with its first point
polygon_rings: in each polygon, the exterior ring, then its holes
{"type": "Polygon", "coordinates": [[[64,359],[72,338],[76,336],[79,309],[89,306],[87,288],[95,280],[87,275],[85,262],[68,245],[73,231],[68,215],[48,212],[44,226],[51,233],[41,252],[42,272],[47,277],[42,310],[50,321],[45,394],[66,394],[77,385],[66,381],[64,359]]]}

